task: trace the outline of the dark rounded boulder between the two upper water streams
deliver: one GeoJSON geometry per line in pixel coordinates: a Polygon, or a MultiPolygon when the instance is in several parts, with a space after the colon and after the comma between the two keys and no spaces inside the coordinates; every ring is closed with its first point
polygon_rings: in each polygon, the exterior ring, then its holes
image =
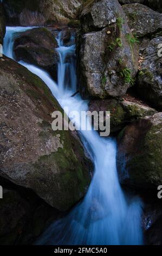
{"type": "Polygon", "coordinates": [[[59,54],[57,41],[46,28],[34,28],[21,33],[14,42],[16,60],[23,60],[47,70],[57,79],[59,54]]]}

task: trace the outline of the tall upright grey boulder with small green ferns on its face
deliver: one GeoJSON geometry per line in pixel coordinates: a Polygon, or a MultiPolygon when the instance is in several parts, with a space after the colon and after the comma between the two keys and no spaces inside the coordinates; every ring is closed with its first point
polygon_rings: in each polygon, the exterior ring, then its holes
{"type": "Polygon", "coordinates": [[[137,44],[129,41],[133,35],[120,4],[88,2],[82,10],[81,26],[77,53],[82,96],[124,95],[137,73],[138,50],[137,44]]]}

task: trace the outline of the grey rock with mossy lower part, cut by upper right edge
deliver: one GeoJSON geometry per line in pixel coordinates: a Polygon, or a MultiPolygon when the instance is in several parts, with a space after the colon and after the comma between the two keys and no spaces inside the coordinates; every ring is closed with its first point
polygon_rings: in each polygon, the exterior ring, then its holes
{"type": "Polygon", "coordinates": [[[138,93],[152,106],[162,109],[162,37],[154,38],[142,52],[138,76],[138,93]]]}

